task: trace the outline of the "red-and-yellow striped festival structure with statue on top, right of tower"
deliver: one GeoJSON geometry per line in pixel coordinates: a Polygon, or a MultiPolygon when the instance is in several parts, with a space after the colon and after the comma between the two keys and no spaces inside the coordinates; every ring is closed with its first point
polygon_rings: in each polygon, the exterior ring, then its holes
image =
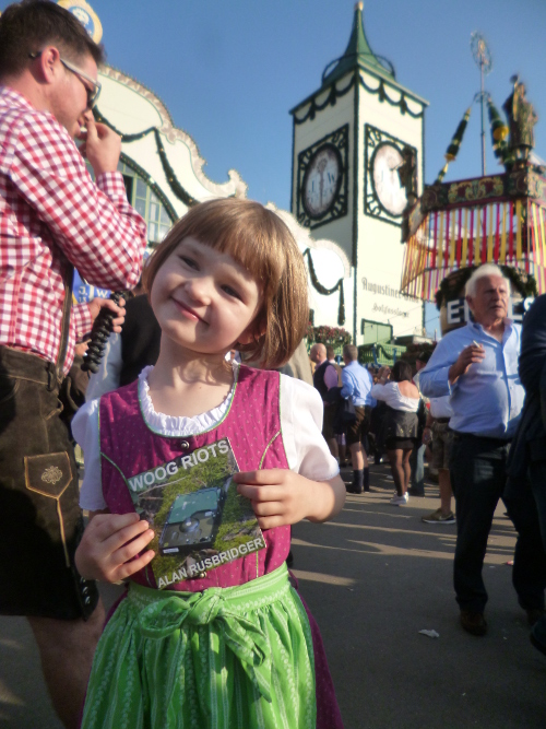
{"type": "Polygon", "coordinates": [[[520,318],[524,299],[546,293],[546,168],[532,153],[537,116],[524,84],[512,77],[513,89],[502,106],[505,121],[484,90],[490,56],[477,34],[473,52],[482,71],[482,91],[475,97],[482,105],[482,176],[443,181],[472,107],[446,152],[446,165],[419,198],[412,160],[399,168],[408,201],[402,227],[406,250],[401,289],[423,301],[436,301],[442,333],[464,322],[464,284],[483,263],[498,264],[510,280],[514,318],[520,318]],[[486,107],[494,153],[503,166],[502,173],[494,175],[485,173],[486,107]]]}

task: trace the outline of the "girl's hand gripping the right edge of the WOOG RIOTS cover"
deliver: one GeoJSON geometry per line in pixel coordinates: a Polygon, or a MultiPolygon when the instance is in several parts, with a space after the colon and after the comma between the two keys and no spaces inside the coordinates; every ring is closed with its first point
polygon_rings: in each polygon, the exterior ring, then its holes
{"type": "Polygon", "coordinates": [[[341,512],[345,485],[336,475],[331,481],[310,481],[285,469],[236,473],[237,491],[252,502],[262,529],[273,529],[301,519],[325,521],[341,512]]]}

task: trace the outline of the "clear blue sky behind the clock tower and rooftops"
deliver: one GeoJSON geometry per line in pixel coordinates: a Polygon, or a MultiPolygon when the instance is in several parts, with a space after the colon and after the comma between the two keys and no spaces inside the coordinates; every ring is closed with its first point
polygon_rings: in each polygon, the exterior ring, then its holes
{"type": "MultiPolygon", "coordinates": [[[[9,3],[0,0],[0,8],[9,3]]],[[[235,167],[249,197],[289,209],[292,117],[345,50],[354,0],[92,0],[108,61],[153,90],[176,126],[225,181],[235,167]]],[[[470,52],[480,31],[492,55],[486,89],[500,108],[518,72],[542,120],[536,153],[546,158],[544,0],[367,0],[365,30],[397,81],[430,102],[425,181],[434,181],[466,107],[479,90],[470,52]]],[[[500,171],[490,151],[487,171],[500,171]]],[[[474,105],[447,179],[480,174],[479,108],[474,105]]]]}

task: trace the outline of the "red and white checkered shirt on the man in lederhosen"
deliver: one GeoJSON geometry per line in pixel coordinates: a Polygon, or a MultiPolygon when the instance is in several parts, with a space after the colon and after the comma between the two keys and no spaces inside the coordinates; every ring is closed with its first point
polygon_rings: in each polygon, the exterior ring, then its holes
{"type": "MultiPolygon", "coordinates": [[[[120,173],[92,180],[67,130],[17,92],[0,86],[0,344],[56,362],[69,259],[91,284],[134,286],[146,224],[127,201],[120,173]]],[[[72,307],[63,371],[91,329],[72,307]]]]}

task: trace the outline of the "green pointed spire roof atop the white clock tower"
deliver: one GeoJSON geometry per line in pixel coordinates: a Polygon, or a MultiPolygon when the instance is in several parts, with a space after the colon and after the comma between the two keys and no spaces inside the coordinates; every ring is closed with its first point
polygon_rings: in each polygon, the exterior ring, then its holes
{"type": "Polygon", "coordinates": [[[353,19],[353,30],[345,52],[341,58],[331,61],[322,73],[322,84],[330,84],[342,75],[353,70],[361,68],[365,71],[373,71],[381,77],[394,80],[394,67],[390,61],[381,56],[376,56],[370,48],[363,21],[364,2],[357,2],[355,5],[355,15],[353,19]],[[383,61],[383,62],[381,62],[383,61]],[[332,64],[335,66],[331,69],[332,64]]]}

